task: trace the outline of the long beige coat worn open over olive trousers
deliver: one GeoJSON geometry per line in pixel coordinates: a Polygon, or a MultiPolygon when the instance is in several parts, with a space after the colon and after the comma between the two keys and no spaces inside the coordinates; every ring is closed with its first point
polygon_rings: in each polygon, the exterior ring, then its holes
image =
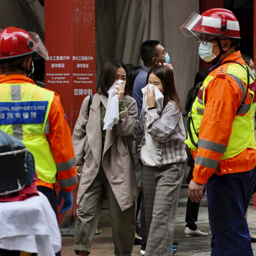
{"type": "Polygon", "coordinates": [[[77,164],[83,164],[77,204],[92,184],[101,164],[122,211],[130,208],[138,197],[132,152],[137,103],[126,95],[123,100],[126,109],[119,113],[118,124],[112,130],[106,130],[103,151],[100,95],[93,97],[89,118],[89,96],[82,102],[72,137],[77,164]]]}

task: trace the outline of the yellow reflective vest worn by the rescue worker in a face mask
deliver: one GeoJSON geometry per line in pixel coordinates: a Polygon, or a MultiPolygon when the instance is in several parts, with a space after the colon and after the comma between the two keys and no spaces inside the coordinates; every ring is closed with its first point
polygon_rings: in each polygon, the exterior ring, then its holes
{"type": "MultiPolygon", "coordinates": [[[[229,63],[228,68],[226,69],[226,75],[233,77],[233,79],[240,86],[240,89],[242,90],[242,100],[247,94],[249,94],[249,98],[251,97],[251,102],[253,102],[254,92],[250,88],[248,88],[248,92],[246,92],[245,86],[243,85],[243,82],[247,84],[247,68],[246,65],[243,66],[245,68],[241,68],[241,65],[237,63],[229,63]]],[[[221,72],[221,66],[218,67],[218,69],[221,72]]],[[[250,72],[249,84],[251,84],[254,81],[254,75],[250,71],[249,67],[248,71],[250,72]]],[[[199,89],[196,100],[192,105],[192,110],[188,114],[188,130],[191,132],[188,132],[188,139],[185,141],[185,143],[188,144],[189,148],[195,151],[197,151],[197,143],[199,141],[198,135],[205,109],[205,88],[207,88],[209,82],[212,81],[212,79],[214,79],[214,77],[209,75],[204,80],[203,85],[199,89]]],[[[247,147],[256,148],[254,134],[255,109],[256,102],[247,105],[242,104],[238,109],[237,115],[233,121],[232,134],[230,135],[228,146],[225,147],[221,144],[214,145],[217,152],[224,152],[221,158],[222,160],[232,158],[233,156],[240,154],[247,147]]],[[[203,143],[204,142],[202,141],[201,145],[203,143]]]]}

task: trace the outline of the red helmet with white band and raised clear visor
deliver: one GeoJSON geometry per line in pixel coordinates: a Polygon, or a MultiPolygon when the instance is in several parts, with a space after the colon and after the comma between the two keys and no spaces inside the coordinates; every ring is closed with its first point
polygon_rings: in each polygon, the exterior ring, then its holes
{"type": "Polygon", "coordinates": [[[208,34],[213,37],[221,35],[227,38],[241,39],[236,16],[232,11],[222,8],[210,9],[201,15],[195,12],[191,13],[180,24],[180,30],[185,36],[208,34]]]}

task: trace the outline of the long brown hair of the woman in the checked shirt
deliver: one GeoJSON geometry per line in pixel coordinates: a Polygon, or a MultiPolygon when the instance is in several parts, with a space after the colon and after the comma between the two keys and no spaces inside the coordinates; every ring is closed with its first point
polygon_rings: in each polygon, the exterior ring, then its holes
{"type": "Polygon", "coordinates": [[[151,73],[156,75],[162,82],[164,88],[164,106],[168,103],[168,101],[172,101],[182,113],[182,106],[180,104],[179,96],[177,95],[174,81],[174,72],[172,72],[170,68],[163,65],[151,68],[147,75],[146,84],[148,84],[148,77],[151,73]]]}

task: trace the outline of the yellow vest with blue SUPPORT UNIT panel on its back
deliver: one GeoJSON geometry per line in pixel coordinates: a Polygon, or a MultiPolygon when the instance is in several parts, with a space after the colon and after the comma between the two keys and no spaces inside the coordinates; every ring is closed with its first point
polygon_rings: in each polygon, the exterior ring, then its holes
{"type": "Polygon", "coordinates": [[[0,86],[0,129],[20,139],[34,155],[40,180],[55,183],[56,163],[45,135],[54,92],[30,83],[0,86]]]}

